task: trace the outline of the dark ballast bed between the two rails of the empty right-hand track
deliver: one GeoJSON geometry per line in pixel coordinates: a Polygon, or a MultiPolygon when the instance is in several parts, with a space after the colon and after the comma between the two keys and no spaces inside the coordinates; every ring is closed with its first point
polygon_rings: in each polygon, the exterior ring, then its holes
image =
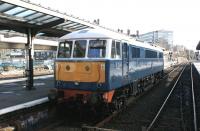
{"type": "Polygon", "coordinates": [[[152,130],[193,131],[191,68],[188,65],[152,130]]]}

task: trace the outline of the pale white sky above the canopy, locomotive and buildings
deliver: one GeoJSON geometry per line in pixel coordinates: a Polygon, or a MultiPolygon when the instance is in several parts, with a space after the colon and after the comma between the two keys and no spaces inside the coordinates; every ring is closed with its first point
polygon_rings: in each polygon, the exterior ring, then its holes
{"type": "Polygon", "coordinates": [[[173,31],[174,45],[195,50],[200,41],[199,0],[31,0],[100,25],[140,34],[173,31]]]}

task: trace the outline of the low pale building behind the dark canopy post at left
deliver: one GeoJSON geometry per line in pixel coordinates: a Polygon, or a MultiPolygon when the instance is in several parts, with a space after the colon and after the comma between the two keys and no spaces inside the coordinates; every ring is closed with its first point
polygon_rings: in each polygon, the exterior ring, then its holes
{"type": "MultiPolygon", "coordinates": [[[[25,37],[5,37],[5,35],[0,34],[0,60],[24,59],[26,41],[25,37]]],[[[56,57],[57,41],[36,38],[33,44],[35,60],[47,60],[56,57]]]]}

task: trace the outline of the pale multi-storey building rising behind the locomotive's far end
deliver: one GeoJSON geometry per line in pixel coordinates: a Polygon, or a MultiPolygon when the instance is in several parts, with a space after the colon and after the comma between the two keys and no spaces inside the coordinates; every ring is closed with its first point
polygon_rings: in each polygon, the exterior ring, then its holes
{"type": "Polygon", "coordinates": [[[157,30],[139,35],[139,40],[170,49],[173,45],[173,31],[157,30]]]}

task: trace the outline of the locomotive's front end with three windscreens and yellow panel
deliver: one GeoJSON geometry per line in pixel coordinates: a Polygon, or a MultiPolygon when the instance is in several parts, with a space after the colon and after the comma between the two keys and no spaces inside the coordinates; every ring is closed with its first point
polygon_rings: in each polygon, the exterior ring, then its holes
{"type": "Polygon", "coordinates": [[[106,39],[75,39],[59,43],[55,60],[55,87],[66,101],[93,101],[100,94],[111,102],[113,91],[107,83],[106,39]]]}

